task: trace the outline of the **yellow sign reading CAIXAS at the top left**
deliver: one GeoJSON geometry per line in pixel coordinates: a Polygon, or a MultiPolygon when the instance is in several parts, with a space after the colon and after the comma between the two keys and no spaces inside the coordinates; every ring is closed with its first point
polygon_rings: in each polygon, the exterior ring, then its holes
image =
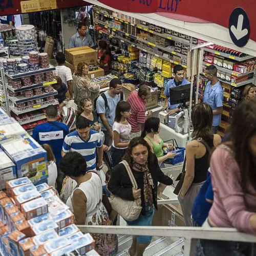
{"type": "Polygon", "coordinates": [[[22,13],[52,10],[57,8],[56,0],[30,0],[20,2],[22,13]]]}

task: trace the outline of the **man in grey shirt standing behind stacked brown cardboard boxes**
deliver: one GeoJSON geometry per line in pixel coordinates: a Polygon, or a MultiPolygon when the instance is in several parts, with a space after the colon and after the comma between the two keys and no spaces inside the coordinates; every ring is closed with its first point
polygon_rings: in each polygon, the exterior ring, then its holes
{"type": "Polygon", "coordinates": [[[69,42],[69,48],[89,46],[94,47],[94,42],[89,32],[87,31],[87,24],[84,22],[78,23],[78,31],[72,35],[69,42]]]}

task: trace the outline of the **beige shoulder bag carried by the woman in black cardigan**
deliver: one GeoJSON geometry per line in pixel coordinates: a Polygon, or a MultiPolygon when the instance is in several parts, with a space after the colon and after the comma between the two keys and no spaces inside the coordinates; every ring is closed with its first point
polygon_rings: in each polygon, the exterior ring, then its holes
{"type": "MultiPolygon", "coordinates": [[[[120,163],[122,163],[125,166],[127,173],[132,181],[133,187],[135,189],[138,189],[137,182],[133,176],[133,173],[129,164],[126,161],[122,161],[120,163]]],[[[110,203],[111,203],[112,209],[117,211],[117,213],[124,220],[135,221],[139,218],[139,215],[142,209],[140,199],[135,199],[134,201],[130,201],[130,200],[125,200],[111,194],[110,203]]]]}

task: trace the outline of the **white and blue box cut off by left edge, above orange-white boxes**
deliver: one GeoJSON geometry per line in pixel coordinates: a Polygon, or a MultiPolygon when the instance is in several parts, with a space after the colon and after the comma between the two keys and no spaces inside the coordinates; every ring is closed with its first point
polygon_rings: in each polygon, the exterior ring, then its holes
{"type": "Polygon", "coordinates": [[[0,189],[6,188],[6,181],[17,178],[16,166],[0,148],[0,189]]]}

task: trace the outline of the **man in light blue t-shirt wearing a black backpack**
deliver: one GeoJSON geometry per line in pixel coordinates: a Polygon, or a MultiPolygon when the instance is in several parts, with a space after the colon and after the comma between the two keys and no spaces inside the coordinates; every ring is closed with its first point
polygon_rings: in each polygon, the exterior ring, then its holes
{"type": "Polygon", "coordinates": [[[101,93],[96,101],[99,122],[105,135],[104,144],[107,146],[111,145],[113,139],[112,127],[115,120],[116,106],[120,100],[125,100],[122,93],[122,82],[118,78],[113,78],[110,81],[110,90],[101,93]]]}

